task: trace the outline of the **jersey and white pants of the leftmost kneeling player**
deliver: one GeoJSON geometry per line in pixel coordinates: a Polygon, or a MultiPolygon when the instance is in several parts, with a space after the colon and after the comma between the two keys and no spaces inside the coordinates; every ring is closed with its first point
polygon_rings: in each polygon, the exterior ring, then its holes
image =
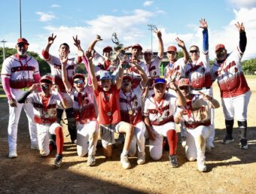
{"type": "Polygon", "coordinates": [[[33,106],[40,154],[47,156],[50,153],[49,133],[55,135],[55,129],[61,127],[59,123],[56,123],[56,105],[60,104],[60,99],[59,95],[51,94],[47,106],[45,106],[42,95],[43,92],[31,93],[26,98],[26,103],[33,106]]]}

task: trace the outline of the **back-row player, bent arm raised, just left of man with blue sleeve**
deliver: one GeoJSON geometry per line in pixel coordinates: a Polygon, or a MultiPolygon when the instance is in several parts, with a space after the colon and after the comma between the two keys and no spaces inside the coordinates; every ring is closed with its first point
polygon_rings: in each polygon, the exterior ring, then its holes
{"type": "MultiPolygon", "coordinates": [[[[169,64],[166,65],[164,78],[166,80],[167,86],[175,82],[178,85],[178,80],[181,77],[184,77],[184,65],[189,59],[187,49],[185,47],[184,41],[175,38],[175,41],[178,43],[178,47],[181,47],[184,57],[177,59],[177,47],[170,45],[167,48],[167,57],[169,59],[169,64]]],[[[176,95],[176,92],[173,89],[168,89],[168,92],[172,95],[176,95]]],[[[164,141],[166,139],[164,138],[164,141]]],[[[186,145],[186,129],[184,128],[184,123],[181,122],[181,145],[184,147],[186,145]]]]}

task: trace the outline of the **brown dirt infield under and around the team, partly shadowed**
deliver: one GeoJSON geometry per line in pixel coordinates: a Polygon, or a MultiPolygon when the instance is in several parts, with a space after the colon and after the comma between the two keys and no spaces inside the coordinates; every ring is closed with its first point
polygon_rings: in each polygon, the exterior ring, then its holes
{"type": "MultiPolygon", "coordinates": [[[[248,79],[252,95],[248,107],[248,150],[239,149],[239,131],[235,122],[233,144],[221,144],[224,138],[222,109],[215,111],[215,149],[206,154],[207,172],[197,171],[197,162],[187,162],[184,148],[178,142],[178,168],[169,166],[168,153],[159,162],[148,156],[145,165],[123,170],[120,165],[121,147],[114,148],[111,161],[106,161],[102,148],[97,147],[96,166],[87,167],[87,157],[78,157],[74,144],[66,138],[61,168],[51,163],[54,153],[47,158],[38,150],[30,150],[29,131],[24,112],[18,129],[16,159],[8,159],[8,105],[0,99],[0,192],[4,193],[255,193],[256,190],[256,78],[248,79]]],[[[215,85],[215,97],[219,92],[215,85]]],[[[67,132],[67,130],[65,130],[67,132]]],[[[178,135],[179,136],[179,135],[178,135]]]]}

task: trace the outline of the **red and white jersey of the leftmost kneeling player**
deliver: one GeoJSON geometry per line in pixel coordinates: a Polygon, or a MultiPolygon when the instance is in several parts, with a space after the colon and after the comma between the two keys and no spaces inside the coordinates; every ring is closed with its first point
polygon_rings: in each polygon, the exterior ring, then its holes
{"type": "Polygon", "coordinates": [[[56,105],[60,105],[59,95],[50,94],[47,105],[43,103],[43,92],[31,93],[26,98],[26,103],[33,105],[35,123],[49,125],[56,122],[56,105]]]}

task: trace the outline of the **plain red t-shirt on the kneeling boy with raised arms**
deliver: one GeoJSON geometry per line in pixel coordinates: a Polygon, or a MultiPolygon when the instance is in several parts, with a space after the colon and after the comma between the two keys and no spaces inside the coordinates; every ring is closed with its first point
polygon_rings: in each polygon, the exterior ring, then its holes
{"type": "Polygon", "coordinates": [[[117,89],[116,85],[111,86],[108,92],[104,92],[101,86],[94,90],[99,108],[99,124],[110,125],[120,122],[119,92],[120,89],[117,89]]]}

